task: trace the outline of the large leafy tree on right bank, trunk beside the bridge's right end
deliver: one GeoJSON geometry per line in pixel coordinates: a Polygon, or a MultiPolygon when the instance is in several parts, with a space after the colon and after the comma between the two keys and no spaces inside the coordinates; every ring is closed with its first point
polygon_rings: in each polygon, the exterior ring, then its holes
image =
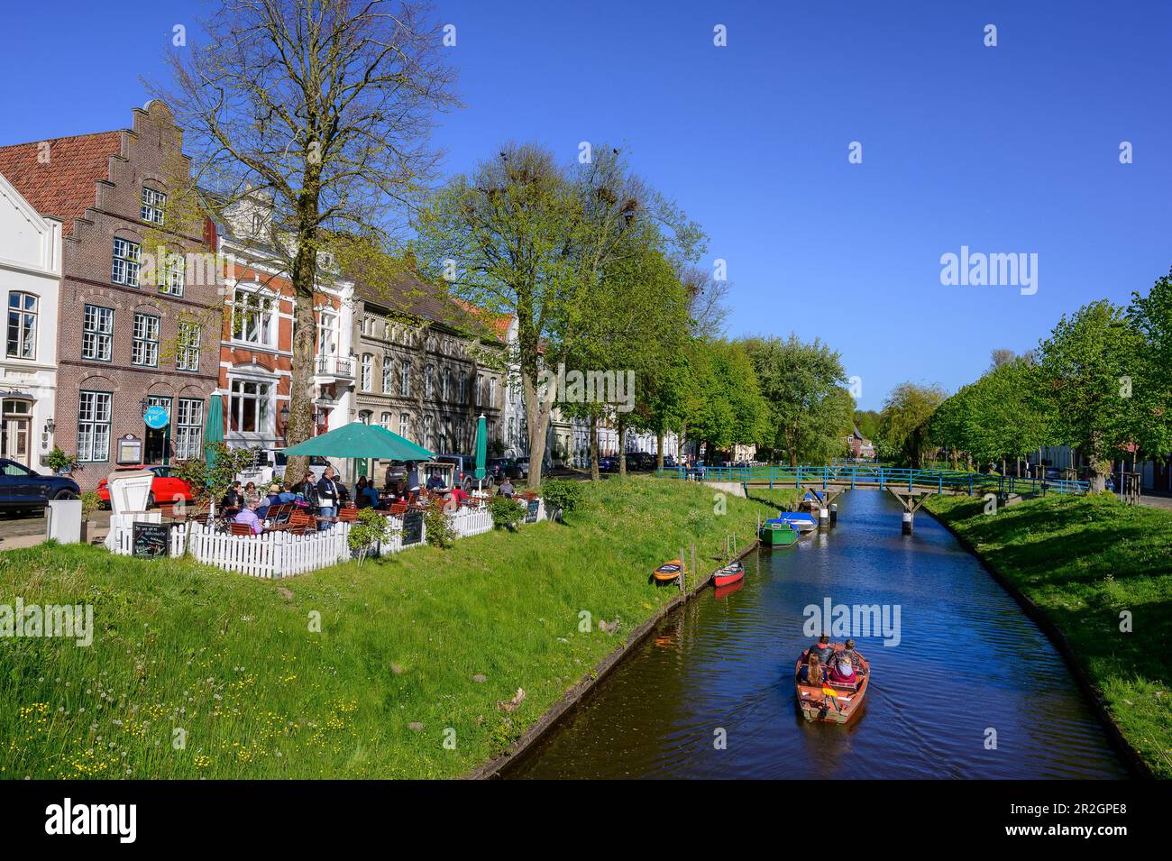
{"type": "Polygon", "coordinates": [[[1146,369],[1140,330],[1106,300],[1063,315],[1040,347],[1038,373],[1058,442],[1090,464],[1091,490],[1106,486],[1111,458],[1134,439],[1154,438],[1161,417],[1133,397],[1146,369]]]}

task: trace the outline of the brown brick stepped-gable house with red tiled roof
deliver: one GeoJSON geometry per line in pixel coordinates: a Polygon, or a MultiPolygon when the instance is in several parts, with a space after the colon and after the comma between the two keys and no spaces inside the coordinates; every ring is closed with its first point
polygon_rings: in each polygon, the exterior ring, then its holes
{"type": "Polygon", "coordinates": [[[53,442],[77,453],[83,490],[118,464],[202,453],[223,298],[210,221],[168,203],[168,177],[189,170],[158,101],[129,129],[0,148],[0,173],[62,223],[53,442]],[[158,430],[152,405],[168,414],[158,430]]]}

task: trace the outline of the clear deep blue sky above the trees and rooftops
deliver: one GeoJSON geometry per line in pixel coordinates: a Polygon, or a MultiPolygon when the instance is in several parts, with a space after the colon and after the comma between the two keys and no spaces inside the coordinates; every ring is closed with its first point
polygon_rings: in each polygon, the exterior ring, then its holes
{"type": "MultiPolygon", "coordinates": [[[[192,0],[6,9],[0,143],[122,127],[192,0]],[[116,8],[116,11],[115,11],[116,8]]],[[[618,143],[728,261],[729,334],[822,337],[864,408],[947,389],[1172,265],[1172,5],[441,0],[466,170],[506,139],[618,143]],[[728,27],[728,47],[713,27],[728,27]],[[997,26],[996,48],[983,27],[997,26]],[[850,142],[863,164],[847,163],[850,142]],[[1130,141],[1134,163],[1120,165],[1130,141]],[[1038,291],[945,287],[962,245],[1038,254],[1038,291]]]]}

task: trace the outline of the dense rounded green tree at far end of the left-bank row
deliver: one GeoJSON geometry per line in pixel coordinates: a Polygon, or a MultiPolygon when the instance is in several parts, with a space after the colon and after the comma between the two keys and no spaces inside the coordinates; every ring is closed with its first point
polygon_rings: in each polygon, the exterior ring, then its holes
{"type": "Polygon", "coordinates": [[[795,334],[784,341],[747,339],[745,348],[769,403],[769,446],[788,457],[790,466],[840,453],[853,430],[854,402],[841,388],[846,371],[839,354],[817,339],[803,343],[795,334]]]}

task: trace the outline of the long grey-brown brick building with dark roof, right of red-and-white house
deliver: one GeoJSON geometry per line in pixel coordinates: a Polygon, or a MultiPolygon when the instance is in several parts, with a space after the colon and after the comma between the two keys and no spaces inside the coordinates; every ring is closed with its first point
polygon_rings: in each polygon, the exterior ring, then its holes
{"type": "MultiPolygon", "coordinates": [[[[409,279],[354,289],[354,421],[436,453],[471,456],[483,415],[489,456],[500,451],[509,319],[469,312],[409,279]]],[[[380,480],[384,469],[355,465],[380,480]]]]}

